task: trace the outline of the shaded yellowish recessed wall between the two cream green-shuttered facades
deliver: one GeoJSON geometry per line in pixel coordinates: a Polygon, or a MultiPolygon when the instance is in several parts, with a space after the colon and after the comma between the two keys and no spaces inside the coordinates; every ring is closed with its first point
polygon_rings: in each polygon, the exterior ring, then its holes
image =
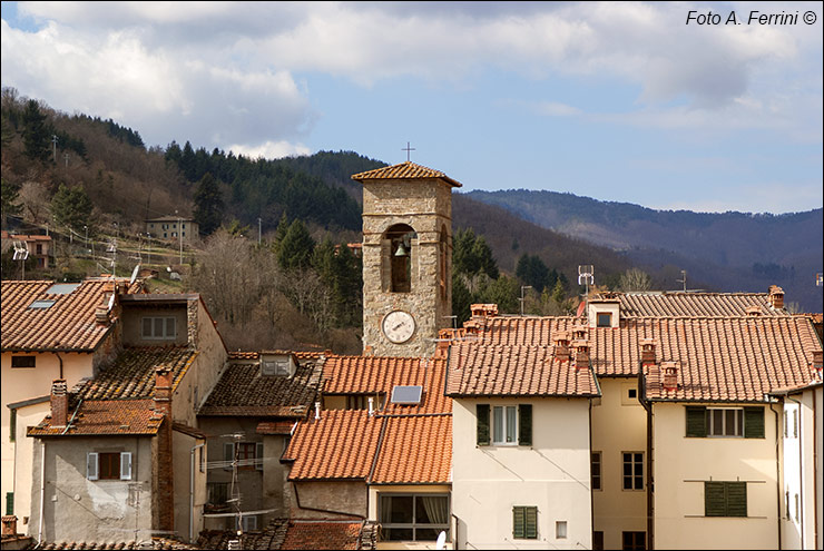
{"type": "MultiPolygon", "coordinates": [[[[624,490],[622,452],[647,452],[647,412],[637,397],[636,377],[600,377],[601,401],[592,407],[592,452],[601,453],[601,489],[592,491],[594,530],[606,549],[620,549],[622,532],[647,531],[647,488],[624,490]]],[[[645,461],[646,474],[646,461],[645,461]]]]}

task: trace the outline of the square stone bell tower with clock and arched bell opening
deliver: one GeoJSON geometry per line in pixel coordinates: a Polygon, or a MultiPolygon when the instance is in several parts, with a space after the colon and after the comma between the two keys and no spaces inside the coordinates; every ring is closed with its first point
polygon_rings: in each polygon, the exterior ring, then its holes
{"type": "Polygon", "coordinates": [[[430,356],[451,327],[452,188],[411,161],[352,176],[363,184],[363,354],[430,356]]]}

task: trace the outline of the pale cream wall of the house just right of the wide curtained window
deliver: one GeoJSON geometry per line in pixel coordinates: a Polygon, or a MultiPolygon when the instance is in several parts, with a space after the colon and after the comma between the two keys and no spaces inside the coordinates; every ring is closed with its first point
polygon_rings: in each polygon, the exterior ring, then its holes
{"type": "Polygon", "coordinates": [[[452,402],[452,513],[458,549],[591,549],[589,401],[452,402]],[[532,404],[531,446],[478,446],[475,404],[532,404]],[[512,508],[538,508],[538,539],[512,538],[512,508]],[[556,539],[556,522],[567,538],[556,539]]]}

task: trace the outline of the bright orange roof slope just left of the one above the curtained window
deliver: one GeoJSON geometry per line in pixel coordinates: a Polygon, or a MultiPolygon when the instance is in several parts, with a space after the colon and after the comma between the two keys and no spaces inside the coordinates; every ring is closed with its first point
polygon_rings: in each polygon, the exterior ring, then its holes
{"type": "Polygon", "coordinates": [[[290,480],[366,479],[383,421],[363,410],[326,410],[297,424],[284,460],[290,480]]]}

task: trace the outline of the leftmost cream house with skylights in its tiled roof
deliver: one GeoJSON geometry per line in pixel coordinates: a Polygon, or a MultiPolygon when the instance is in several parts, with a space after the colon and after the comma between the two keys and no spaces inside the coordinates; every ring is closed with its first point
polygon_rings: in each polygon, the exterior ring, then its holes
{"type": "Polygon", "coordinates": [[[33,449],[26,427],[48,412],[53,380],[71,387],[116,356],[119,298],[143,292],[143,285],[112,278],[3,281],[0,289],[2,494],[4,512],[30,532],[33,449]]]}

